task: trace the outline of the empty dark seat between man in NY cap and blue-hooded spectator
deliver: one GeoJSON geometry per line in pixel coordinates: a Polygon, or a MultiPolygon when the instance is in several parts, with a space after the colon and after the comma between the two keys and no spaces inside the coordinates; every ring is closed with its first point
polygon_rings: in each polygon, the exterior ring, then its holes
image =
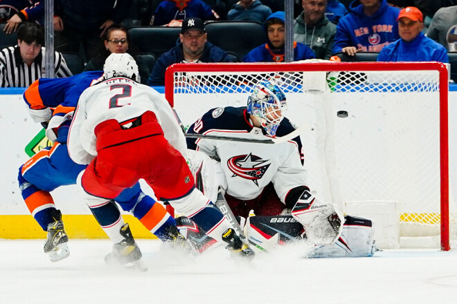
{"type": "Polygon", "coordinates": [[[262,24],[255,21],[213,21],[205,25],[208,41],[235,53],[240,60],[253,48],[265,44],[262,24]]]}

